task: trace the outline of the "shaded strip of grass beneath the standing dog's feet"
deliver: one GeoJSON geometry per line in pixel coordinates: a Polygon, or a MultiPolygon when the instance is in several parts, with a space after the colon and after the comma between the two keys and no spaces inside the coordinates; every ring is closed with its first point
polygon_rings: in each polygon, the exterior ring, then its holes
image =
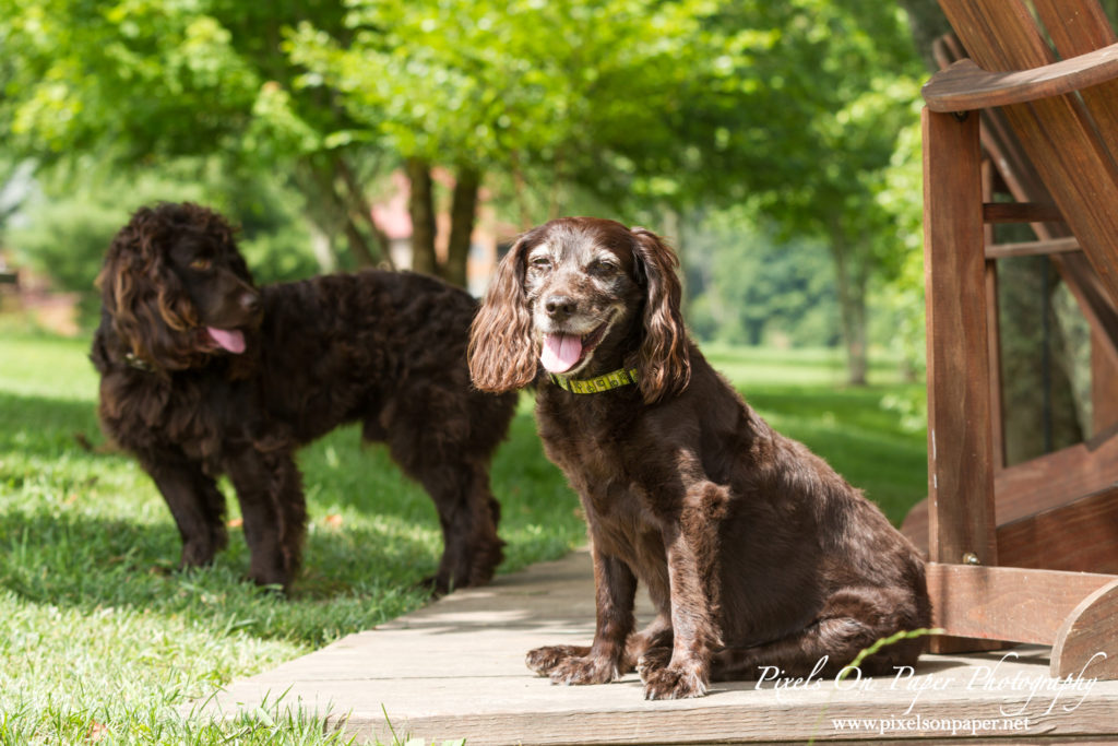
{"type": "Polygon", "coordinates": [[[0,588],[83,614],[131,608],[183,616],[218,632],[319,645],[426,602],[411,586],[424,574],[417,566],[429,563],[429,548],[399,538],[386,542],[369,529],[350,529],[343,538],[311,536],[307,555],[331,566],[311,569],[284,599],[244,579],[248,553],[239,533],[212,567],[179,572],[179,540],[170,527],[25,511],[0,520],[0,588]],[[339,557],[339,544],[362,549],[339,557]]]}

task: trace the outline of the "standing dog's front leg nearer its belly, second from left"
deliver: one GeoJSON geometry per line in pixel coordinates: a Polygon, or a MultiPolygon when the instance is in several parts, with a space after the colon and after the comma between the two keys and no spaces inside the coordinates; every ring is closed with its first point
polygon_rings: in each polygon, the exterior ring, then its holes
{"type": "Polygon", "coordinates": [[[286,452],[245,448],[227,461],[226,470],[237,489],[252,551],[248,576],[286,591],[299,570],[306,530],[299,468],[286,452]]]}

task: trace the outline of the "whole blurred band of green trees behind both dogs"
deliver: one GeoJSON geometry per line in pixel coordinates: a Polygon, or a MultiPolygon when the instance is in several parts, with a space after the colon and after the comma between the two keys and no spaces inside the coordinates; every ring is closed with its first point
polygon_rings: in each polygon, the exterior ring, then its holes
{"type": "Polygon", "coordinates": [[[919,370],[927,72],[892,3],[0,0],[0,246],[59,289],[155,199],[228,213],[264,281],[391,264],[404,172],[416,270],[464,284],[483,201],[508,239],[615,217],[678,246],[700,337],[919,370]]]}

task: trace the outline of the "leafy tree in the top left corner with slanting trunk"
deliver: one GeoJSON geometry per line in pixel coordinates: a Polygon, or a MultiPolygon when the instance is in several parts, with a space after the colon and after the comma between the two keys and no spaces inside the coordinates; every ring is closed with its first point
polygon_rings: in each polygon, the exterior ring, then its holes
{"type": "Polygon", "coordinates": [[[339,135],[329,89],[296,89],[280,46],[307,18],[342,35],[343,16],[321,0],[0,0],[0,134],[47,166],[218,157],[228,171],[267,169],[300,189],[320,232],[344,236],[352,263],[387,262],[364,192],[382,151],[339,135]]]}

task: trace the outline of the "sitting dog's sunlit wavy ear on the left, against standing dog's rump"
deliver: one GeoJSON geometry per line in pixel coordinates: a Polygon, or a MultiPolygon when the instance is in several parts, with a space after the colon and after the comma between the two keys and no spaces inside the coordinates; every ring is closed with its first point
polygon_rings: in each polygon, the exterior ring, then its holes
{"type": "Polygon", "coordinates": [[[470,375],[483,391],[510,391],[536,379],[539,355],[524,293],[527,245],[522,236],[501,259],[470,329],[470,375]]]}

